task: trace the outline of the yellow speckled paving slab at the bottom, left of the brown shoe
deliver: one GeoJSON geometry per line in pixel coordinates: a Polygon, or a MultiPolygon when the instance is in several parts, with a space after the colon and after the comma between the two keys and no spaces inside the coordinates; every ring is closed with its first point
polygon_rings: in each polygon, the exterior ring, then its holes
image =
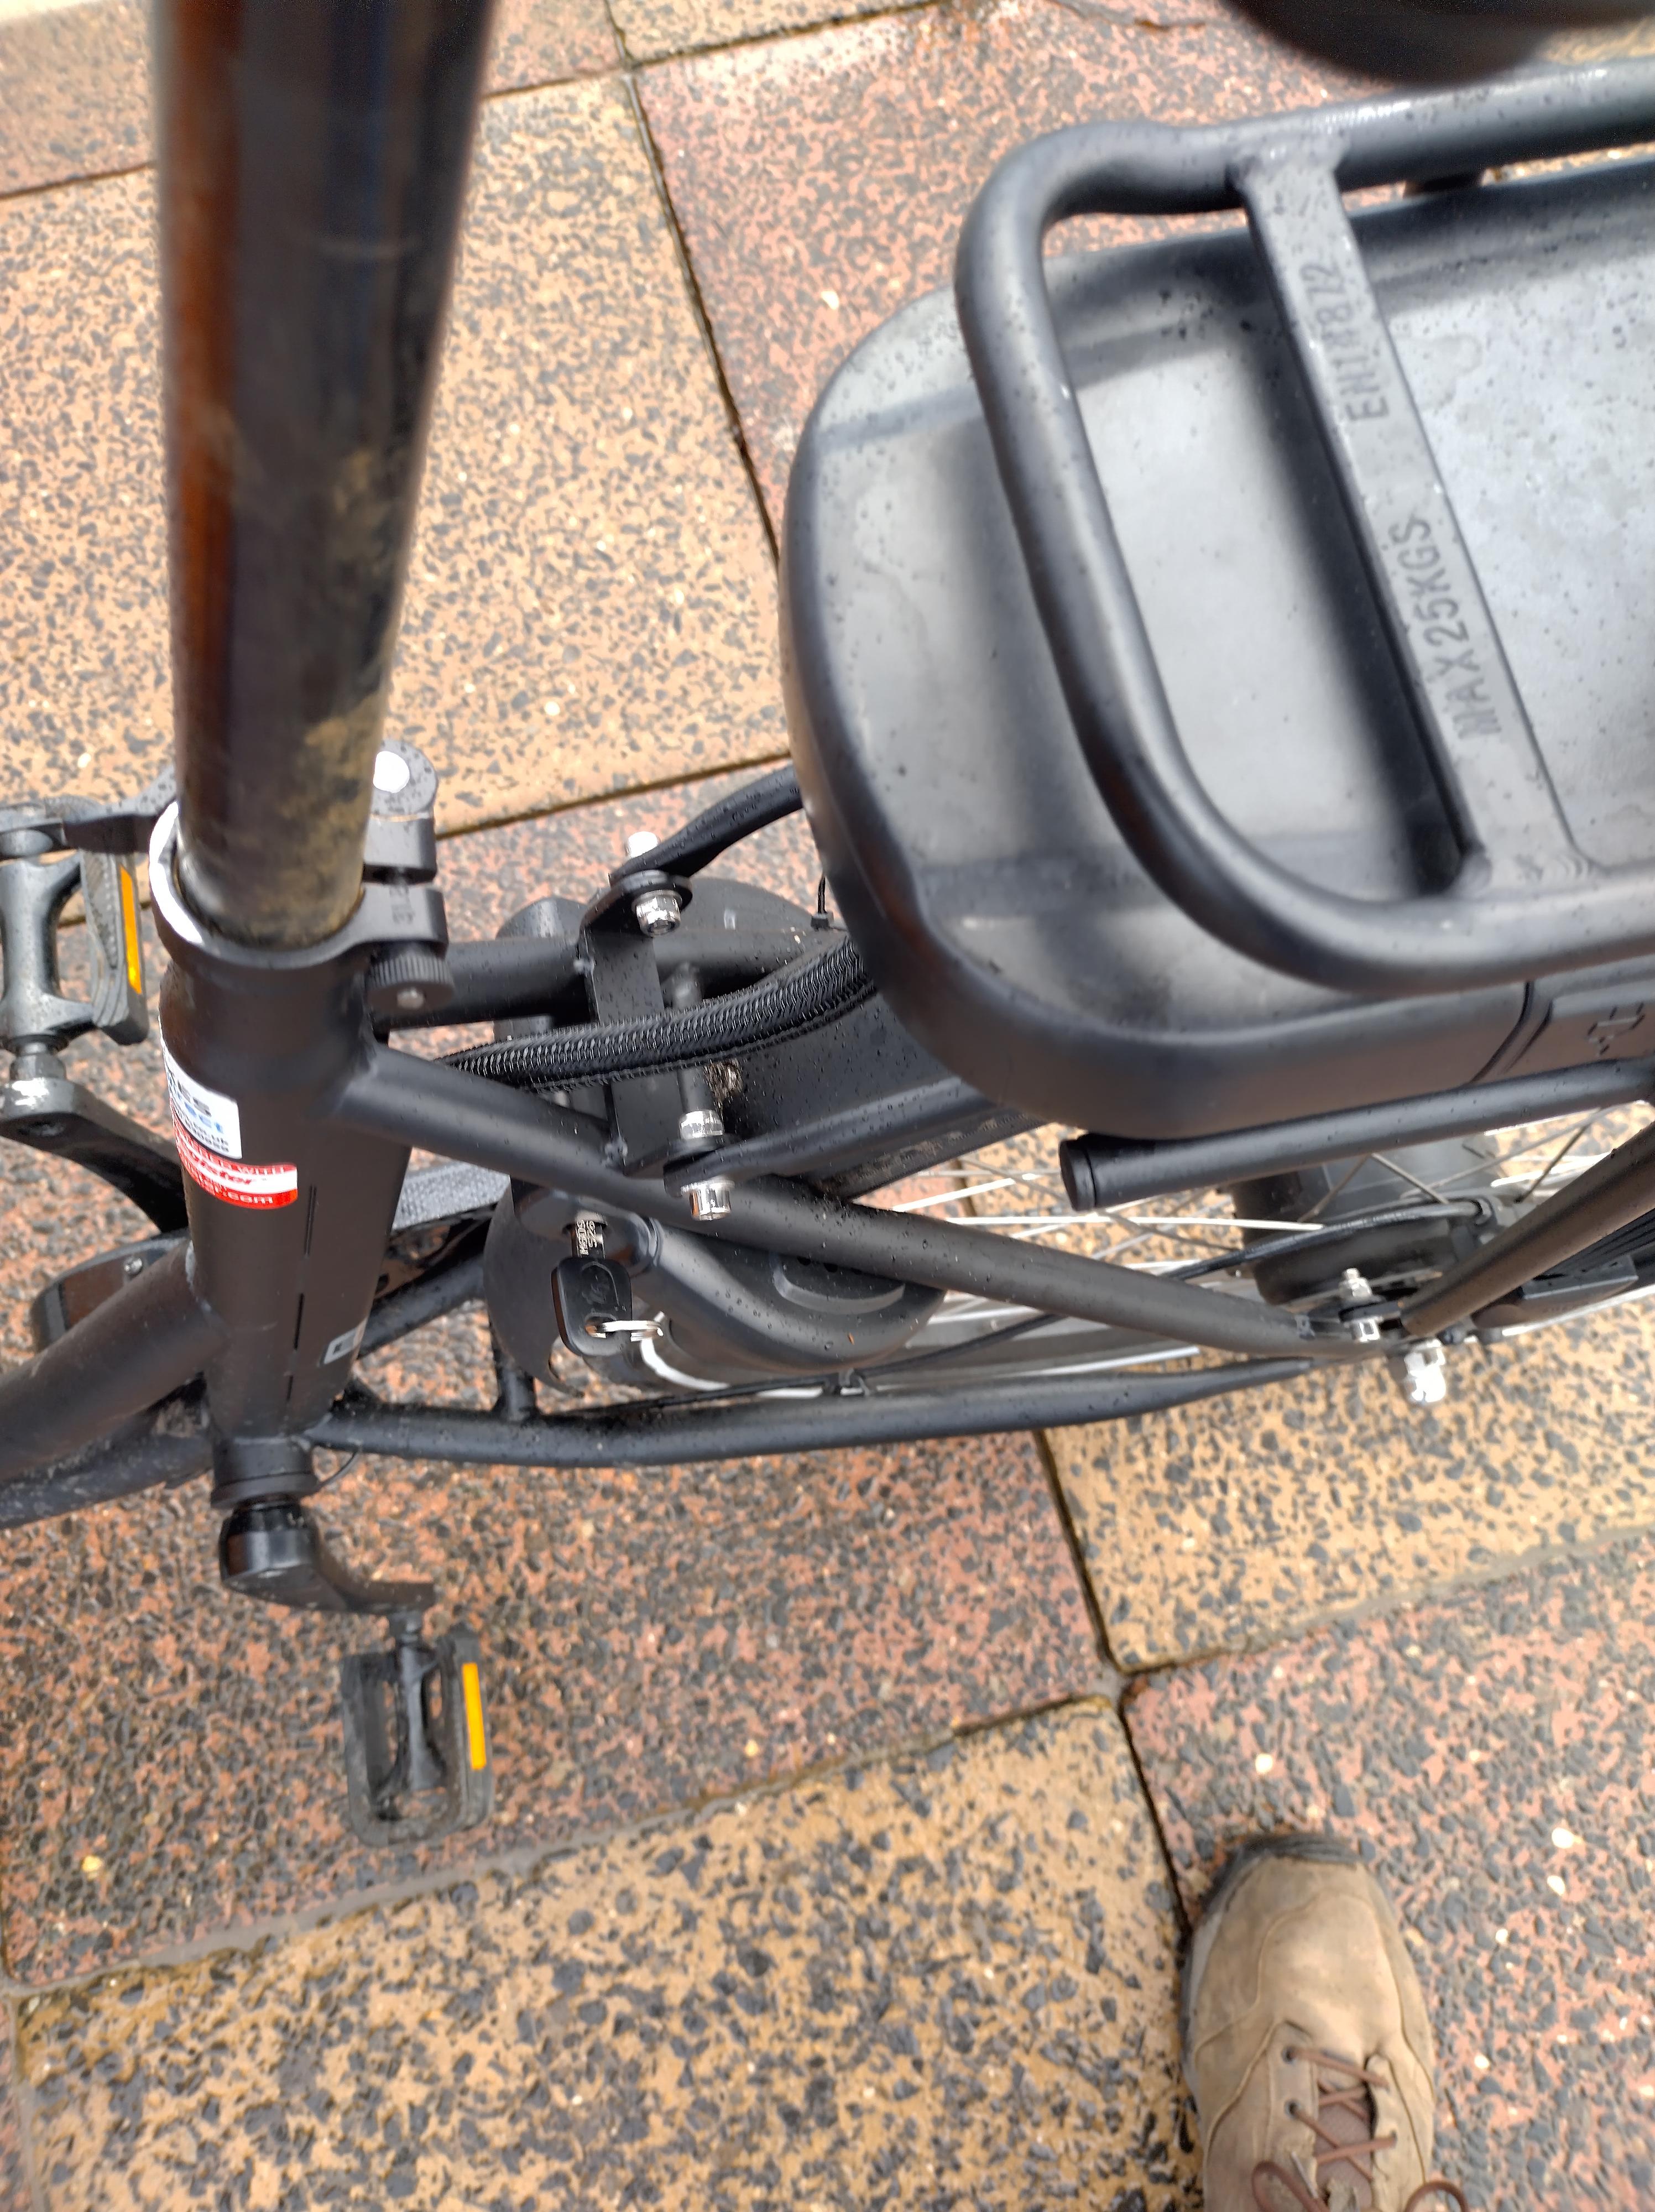
{"type": "Polygon", "coordinates": [[[1120,1723],[1073,1705],[44,1997],[44,2197],[1195,2212],[1173,1944],[1120,1723]]]}

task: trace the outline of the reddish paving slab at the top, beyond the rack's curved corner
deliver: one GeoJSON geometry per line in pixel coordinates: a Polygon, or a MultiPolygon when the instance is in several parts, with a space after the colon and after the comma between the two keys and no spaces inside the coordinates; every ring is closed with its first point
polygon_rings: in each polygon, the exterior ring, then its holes
{"type": "Polygon", "coordinates": [[[1361,91],[1224,9],[1201,13],[971,0],[639,73],[772,518],[828,374],[947,283],[965,210],[1011,146],[1102,115],[1208,122],[1361,91]]]}

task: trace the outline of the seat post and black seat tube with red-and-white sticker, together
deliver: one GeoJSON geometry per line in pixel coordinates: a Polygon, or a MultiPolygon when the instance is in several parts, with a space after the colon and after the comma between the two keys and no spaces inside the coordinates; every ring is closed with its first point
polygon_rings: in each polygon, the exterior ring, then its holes
{"type": "Polygon", "coordinates": [[[155,13],[179,810],[150,874],[223,1504],[314,1486],[299,1438],[350,1374],[407,1157],[316,1106],[369,960],[445,940],[429,774],[381,880],[363,841],[489,18],[155,13]]]}

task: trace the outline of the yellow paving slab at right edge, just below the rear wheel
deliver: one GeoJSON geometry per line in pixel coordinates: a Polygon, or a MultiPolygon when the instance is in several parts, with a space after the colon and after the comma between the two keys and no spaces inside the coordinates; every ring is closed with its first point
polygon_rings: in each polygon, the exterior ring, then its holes
{"type": "Polygon", "coordinates": [[[1655,1526],[1653,1416],[1640,1303],[1456,1354],[1440,1407],[1343,1369],[1049,1442],[1133,1670],[1655,1526]]]}

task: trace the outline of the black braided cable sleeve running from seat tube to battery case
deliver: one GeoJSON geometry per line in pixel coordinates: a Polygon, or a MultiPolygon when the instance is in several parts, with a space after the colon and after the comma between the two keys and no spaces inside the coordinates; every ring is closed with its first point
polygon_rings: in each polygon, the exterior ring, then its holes
{"type": "Polygon", "coordinates": [[[449,1053],[447,1064],[516,1091],[597,1084],[617,1075],[666,1075],[730,1060],[761,1044],[785,1044],[825,1029],[874,995],[861,953],[847,936],[810,960],[726,991],[684,1011],[646,1013],[633,1022],[589,1022],[549,1037],[513,1037],[449,1053]]]}

